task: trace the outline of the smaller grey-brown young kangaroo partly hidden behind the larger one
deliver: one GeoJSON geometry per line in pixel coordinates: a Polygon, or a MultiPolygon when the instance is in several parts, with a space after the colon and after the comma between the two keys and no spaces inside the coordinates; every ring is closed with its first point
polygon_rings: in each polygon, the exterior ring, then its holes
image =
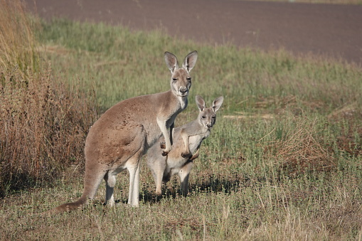
{"type": "Polygon", "coordinates": [[[198,118],[174,130],[174,144],[169,155],[162,156],[159,151],[159,143],[163,147],[162,136],[148,151],[147,165],[154,176],[157,195],[161,195],[162,181],[169,181],[176,173],[180,177],[181,192],[187,194],[188,176],[193,166],[193,159],[198,157],[202,141],[211,133],[216,121],[216,112],[223,104],[223,97],[216,98],[212,107],[206,108],[203,98],[196,96],[196,104],[200,110],[198,118]]]}

